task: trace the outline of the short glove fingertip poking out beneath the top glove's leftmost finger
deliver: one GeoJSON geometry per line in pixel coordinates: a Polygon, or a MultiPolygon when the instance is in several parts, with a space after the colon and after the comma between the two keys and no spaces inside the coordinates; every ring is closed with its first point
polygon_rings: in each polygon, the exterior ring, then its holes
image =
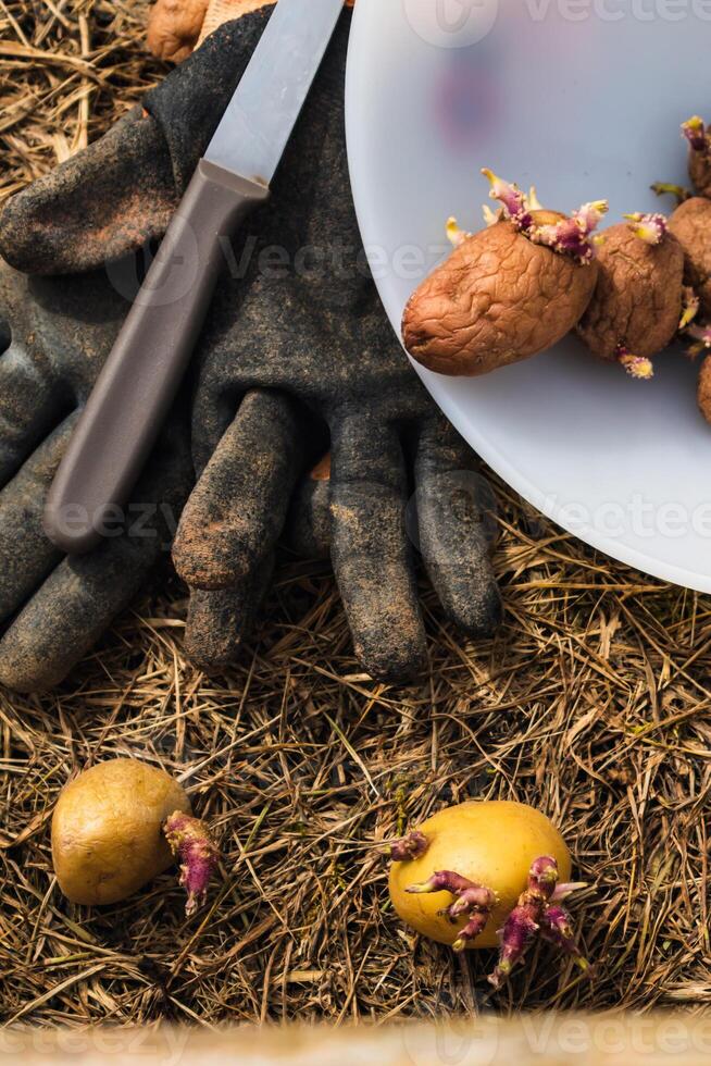
{"type": "Polygon", "coordinates": [[[228,666],[248,639],[272,581],[274,555],[229,588],[195,590],[185,630],[187,657],[210,673],[228,666]]]}

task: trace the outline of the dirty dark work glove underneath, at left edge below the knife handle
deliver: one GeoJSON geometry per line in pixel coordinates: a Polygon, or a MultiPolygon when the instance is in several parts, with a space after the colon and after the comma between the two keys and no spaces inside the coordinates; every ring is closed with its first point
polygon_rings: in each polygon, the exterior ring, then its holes
{"type": "Polygon", "coordinates": [[[42,532],[49,485],[127,308],[97,274],[28,278],[0,263],[0,683],[11,689],[65,677],[170,548],[190,488],[187,424],[174,419],[100,548],[62,558],[42,532]]]}

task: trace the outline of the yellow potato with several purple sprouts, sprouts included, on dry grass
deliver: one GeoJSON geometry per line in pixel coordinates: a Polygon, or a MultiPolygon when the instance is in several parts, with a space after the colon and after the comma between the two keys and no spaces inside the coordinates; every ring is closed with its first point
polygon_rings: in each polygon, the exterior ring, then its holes
{"type": "Polygon", "coordinates": [[[582,967],[560,901],[571,856],[551,821],[526,804],[462,803],[438,811],[389,848],[389,891],[413,929],[456,951],[500,944],[499,986],[540,934],[582,967]]]}

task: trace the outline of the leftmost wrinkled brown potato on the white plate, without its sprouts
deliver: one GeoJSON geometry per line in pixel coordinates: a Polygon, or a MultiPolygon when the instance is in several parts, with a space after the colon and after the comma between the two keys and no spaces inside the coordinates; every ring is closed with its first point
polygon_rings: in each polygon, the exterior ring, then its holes
{"type": "MultiPolygon", "coordinates": [[[[552,211],[533,216],[539,225],[564,219],[552,211]]],[[[404,346],[440,374],[487,374],[564,337],[596,281],[595,261],[582,265],[497,222],[464,240],[410,297],[404,346]]]]}

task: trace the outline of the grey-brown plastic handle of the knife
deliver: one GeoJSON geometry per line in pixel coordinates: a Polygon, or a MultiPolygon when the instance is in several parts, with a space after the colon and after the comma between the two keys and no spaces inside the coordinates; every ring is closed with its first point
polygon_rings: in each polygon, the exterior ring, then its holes
{"type": "Polygon", "coordinates": [[[45,508],[72,555],[101,540],[128,500],[197,343],[229,237],[269,197],[259,182],[201,160],[70,441],[45,508]]]}

